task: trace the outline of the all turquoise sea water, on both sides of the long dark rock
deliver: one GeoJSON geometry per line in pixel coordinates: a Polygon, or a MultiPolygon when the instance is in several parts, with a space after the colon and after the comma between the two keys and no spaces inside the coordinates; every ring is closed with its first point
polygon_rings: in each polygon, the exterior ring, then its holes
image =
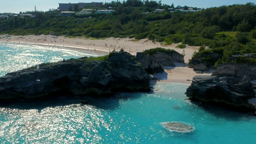
{"type": "MultiPolygon", "coordinates": [[[[0,44],[0,76],[42,62],[98,56],[91,52],[0,44]],[[87,53],[87,54],[86,54],[87,53]],[[62,56],[63,55],[63,56],[62,56]]],[[[155,84],[152,93],[113,98],[0,105],[1,144],[248,144],[255,143],[256,118],[184,100],[187,84],[155,84]],[[161,122],[185,122],[188,133],[161,122]]]]}

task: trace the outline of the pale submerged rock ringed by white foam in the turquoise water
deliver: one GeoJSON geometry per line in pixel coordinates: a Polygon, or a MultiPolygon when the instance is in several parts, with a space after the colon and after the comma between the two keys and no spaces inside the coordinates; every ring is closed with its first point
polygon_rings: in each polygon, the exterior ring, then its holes
{"type": "Polygon", "coordinates": [[[192,132],[195,127],[185,122],[161,122],[162,127],[170,132],[192,132]]]}

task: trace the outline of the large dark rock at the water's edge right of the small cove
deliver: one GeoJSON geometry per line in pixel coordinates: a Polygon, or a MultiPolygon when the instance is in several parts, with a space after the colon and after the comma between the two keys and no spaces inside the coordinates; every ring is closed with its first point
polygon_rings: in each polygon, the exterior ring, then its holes
{"type": "Polygon", "coordinates": [[[249,99],[255,98],[256,93],[250,78],[246,76],[242,80],[217,76],[194,76],[185,94],[190,100],[204,104],[217,104],[241,112],[256,111],[255,106],[248,102],[249,99]]]}

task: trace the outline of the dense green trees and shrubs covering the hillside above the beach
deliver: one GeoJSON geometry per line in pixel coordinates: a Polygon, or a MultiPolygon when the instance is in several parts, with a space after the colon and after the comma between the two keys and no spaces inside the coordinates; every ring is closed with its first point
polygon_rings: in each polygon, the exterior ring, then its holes
{"type": "Polygon", "coordinates": [[[104,3],[102,8],[109,6],[116,12],[62,17],[58,10],[49,10],[37,12],[36,18],[0,19],[0,32],[22,35],[54,32],[56,36],[93,38],[135,37],[162,44],[182,42],[192,46],[222,48],[224,56],[218,64],[227,62],[232,54],[256,52],[256,5],[253,3],[189,13],[152,12],[156,8],[174,8],[174,4],[168,6],[152,0],[112,1],[104,3]],[[151,13],[142,14],[147,11],[151,13]]]}

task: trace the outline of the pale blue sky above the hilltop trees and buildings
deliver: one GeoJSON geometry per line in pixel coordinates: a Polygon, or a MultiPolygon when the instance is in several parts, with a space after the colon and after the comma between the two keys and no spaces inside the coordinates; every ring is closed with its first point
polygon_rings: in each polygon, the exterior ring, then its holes
{"type": "MultiPolygon", "coordinates": [[[[113,0],[0,0],[0,13],[11,12],[19,13],[26,11],[34,11],[35,6],[38,11],[48,11],[50,8],[58,8],[58,3],[78,3],[78,2],[112,2],[113,0]]],[[[123,0],[119,0],[123,1],[123,0]]],[[[154,0],[159,1],[159,0],[154,0]]],[[[210,8],[232,4],[246,4],[252,2],[256,4],[256,0],[162,0],[162,4],[174,6],[191,6],[197,8],[210,8]]]]}

